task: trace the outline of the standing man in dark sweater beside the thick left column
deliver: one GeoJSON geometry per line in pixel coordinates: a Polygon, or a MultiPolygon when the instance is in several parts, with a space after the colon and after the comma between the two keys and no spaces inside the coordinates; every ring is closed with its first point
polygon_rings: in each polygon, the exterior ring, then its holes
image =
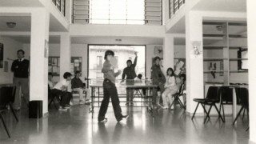
{"type": "Polygon", "coordinates": [[[14,110],[21,108],[21,96],[19,95],[20,88],[22,88],[23,98],[26,105],[29,106],[30,91],[29,91],[29,66],[30,61],[24,58],[25,52],[23,50],[17,51],[18,59],[14,60],[11,65],[11,71],[14,72],[14,85],[16,86],[16,94],[13,103],[14,110]]]}

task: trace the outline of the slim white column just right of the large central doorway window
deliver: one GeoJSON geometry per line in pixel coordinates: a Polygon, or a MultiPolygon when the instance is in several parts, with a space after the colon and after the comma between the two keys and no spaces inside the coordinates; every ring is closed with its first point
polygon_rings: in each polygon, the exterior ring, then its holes
{"type": "Polygon", "coordinates": [[[165,70],[169,67],[174,69],[174,36],[166,34],[163,41],[163,66],[165,70]]]}

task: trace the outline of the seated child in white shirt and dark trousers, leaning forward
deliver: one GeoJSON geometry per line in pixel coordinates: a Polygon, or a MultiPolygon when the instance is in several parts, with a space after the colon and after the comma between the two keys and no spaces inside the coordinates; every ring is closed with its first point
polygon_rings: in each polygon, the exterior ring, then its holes
{"type": "Polygon", "coordinates": [[[53,94],[60,95],[62,97],[62,101],[60,103],[58,110],[66,110],[70,108],[70,99],[72,98],[72,93],[70,93],[68,89],[68,81],[71,80],[71,75],[69,72],[63,74],[63,80],[58,82],[54,89],[51,90],[53,94]]]}

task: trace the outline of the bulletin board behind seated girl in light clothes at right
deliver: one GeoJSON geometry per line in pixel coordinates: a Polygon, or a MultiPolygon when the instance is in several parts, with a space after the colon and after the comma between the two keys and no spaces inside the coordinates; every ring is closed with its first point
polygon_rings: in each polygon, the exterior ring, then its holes
{"type": "Polygon", "coordinates": [[[176,77],[186,74],[186,58],[174,58],[174,74],[176,77]]]}

